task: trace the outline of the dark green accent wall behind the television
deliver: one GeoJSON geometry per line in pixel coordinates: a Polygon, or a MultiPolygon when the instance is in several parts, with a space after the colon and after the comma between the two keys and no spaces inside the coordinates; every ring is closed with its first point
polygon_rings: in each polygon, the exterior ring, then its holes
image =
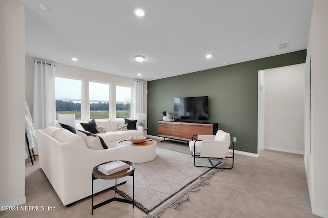
{"type": "Polygon", "coordinates": [[[157,136],[162,111],[173,115],[173,99],[209,96],[209,120],[237,137],[235,149],[257,154],[258,71],[304,63],[306,50],[148,81],[147,124],[157,136]]]}

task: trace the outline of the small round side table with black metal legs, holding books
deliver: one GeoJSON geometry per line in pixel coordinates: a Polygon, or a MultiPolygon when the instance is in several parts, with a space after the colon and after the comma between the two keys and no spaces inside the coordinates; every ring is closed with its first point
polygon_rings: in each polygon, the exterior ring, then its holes
{"type": "MultiPolygon", "coordinates": [[[[109,162],[112,162],[112,161],[108,161],[108,162],[105,162],[105,163],[101,163],[99,165],[103,165],[103,164],[106,164],[106,163],[109,163],[109,162]]],[[[125,162],[127,164],[130,165],[130,168],[129,169],[124,169],[124,170],[121,170],[119,172],[115,172],[111,175],[105,175],[104,173],[98,171],[98,166],[95,166],[93,169],[92,169],[92,194],[91,194],[91,215],[93,215],[93,210],[94,209],[97,209],[98,207],[101,207],[101,206],[104,206],[105,204],[108,204],[112,201],[119,201],[119,202],[124,202],[124,203],[129,203],[129,204],[132,204],[132,208],[134,208],[134,170],[135,170],[135,164],[131,161],[122,161],[122,162],[125,162]],[[127,200],[127,199],[120,199],[120,198],[116,198],[115,197],[115,194],[116,194],[116,186],[117,186],[117,179],[119,178],[122,178],[122,177],[126,177],[126,176],[131,176],[133,177],[133,183],[132,183],[132,201],[131,200],[127,200]],[[114,194],[114,198],[111,198],[111,199],[108,199],[104,202],[101,202],[99,204],[96,204],[96,205],[93,205],[93,181],[96,180],[96,179],[102,179],[102,180],[115,180],[115,194],[114,194]]]]}

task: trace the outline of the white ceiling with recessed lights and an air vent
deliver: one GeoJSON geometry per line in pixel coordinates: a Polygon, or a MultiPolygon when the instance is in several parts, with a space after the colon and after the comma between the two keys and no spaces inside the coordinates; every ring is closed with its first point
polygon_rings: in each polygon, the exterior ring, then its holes
{"type": "Polygon", "coordinates": [[[313,0],[20,1],[26,5],[27,56],[148,81],[306,49],[313,5],[313,0]],[[135,8],[146,15],[137,17],[135,8]],[[279,49],[283,42],[288,47],[279,49]],[[136,62],[135,55],[146,59],[136,62]]]}

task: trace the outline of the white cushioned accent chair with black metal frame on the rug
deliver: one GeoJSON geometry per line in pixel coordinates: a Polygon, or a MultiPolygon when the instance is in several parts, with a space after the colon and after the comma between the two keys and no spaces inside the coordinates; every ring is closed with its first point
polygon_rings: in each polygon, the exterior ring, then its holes
{"type": "MultiPolygon", "coordinates": [[[[216,135],[193,135],[189,142],[191,155],[194,157],[194,165],[197,167],[209,167],[219,169],[232,169],[234,167],[235,145],[230,141],[230,134],[223,130],[218,130],[216,135]],[[197,139],[196,139],[197,137],[197,139]],[[195,138],[195,139],[194,139],[195,138]],[[229,149],[232,147],[232,149],[229,149]],[[198,166],[195,163],[196,158],[208,158],[212,166],[198,166]],[[214,164],[212,160],[231,158],[230,167],[218,166],[222,162],[214,164]]],[[[228,164],[224,164],[226,166],[228,164]]],[[[229,166],[229,165],[228,165],[229,166]]]]}

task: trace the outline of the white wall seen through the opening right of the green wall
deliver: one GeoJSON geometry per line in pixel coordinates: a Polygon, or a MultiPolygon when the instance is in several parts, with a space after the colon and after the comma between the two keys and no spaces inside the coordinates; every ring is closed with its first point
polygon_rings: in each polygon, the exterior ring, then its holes
{"type": "Polygon", "coordinates": [[[303,154],[304,64],[263,72],[264,148],[303,154]]]}

